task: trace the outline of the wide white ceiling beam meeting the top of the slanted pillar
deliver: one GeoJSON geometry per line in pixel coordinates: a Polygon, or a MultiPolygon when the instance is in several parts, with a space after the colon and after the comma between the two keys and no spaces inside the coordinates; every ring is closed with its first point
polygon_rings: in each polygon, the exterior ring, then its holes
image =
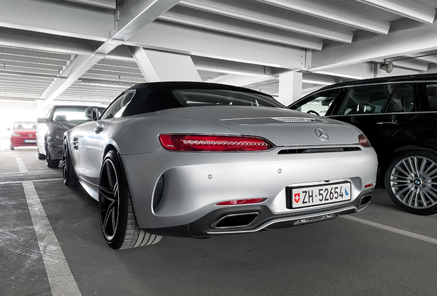
{"type": "Polygon", "coordinates": [[[304,69],[306,53],[304,49],[257,42],[163,21],[150,23],[126,44],[284,69],[304,69]]]}

